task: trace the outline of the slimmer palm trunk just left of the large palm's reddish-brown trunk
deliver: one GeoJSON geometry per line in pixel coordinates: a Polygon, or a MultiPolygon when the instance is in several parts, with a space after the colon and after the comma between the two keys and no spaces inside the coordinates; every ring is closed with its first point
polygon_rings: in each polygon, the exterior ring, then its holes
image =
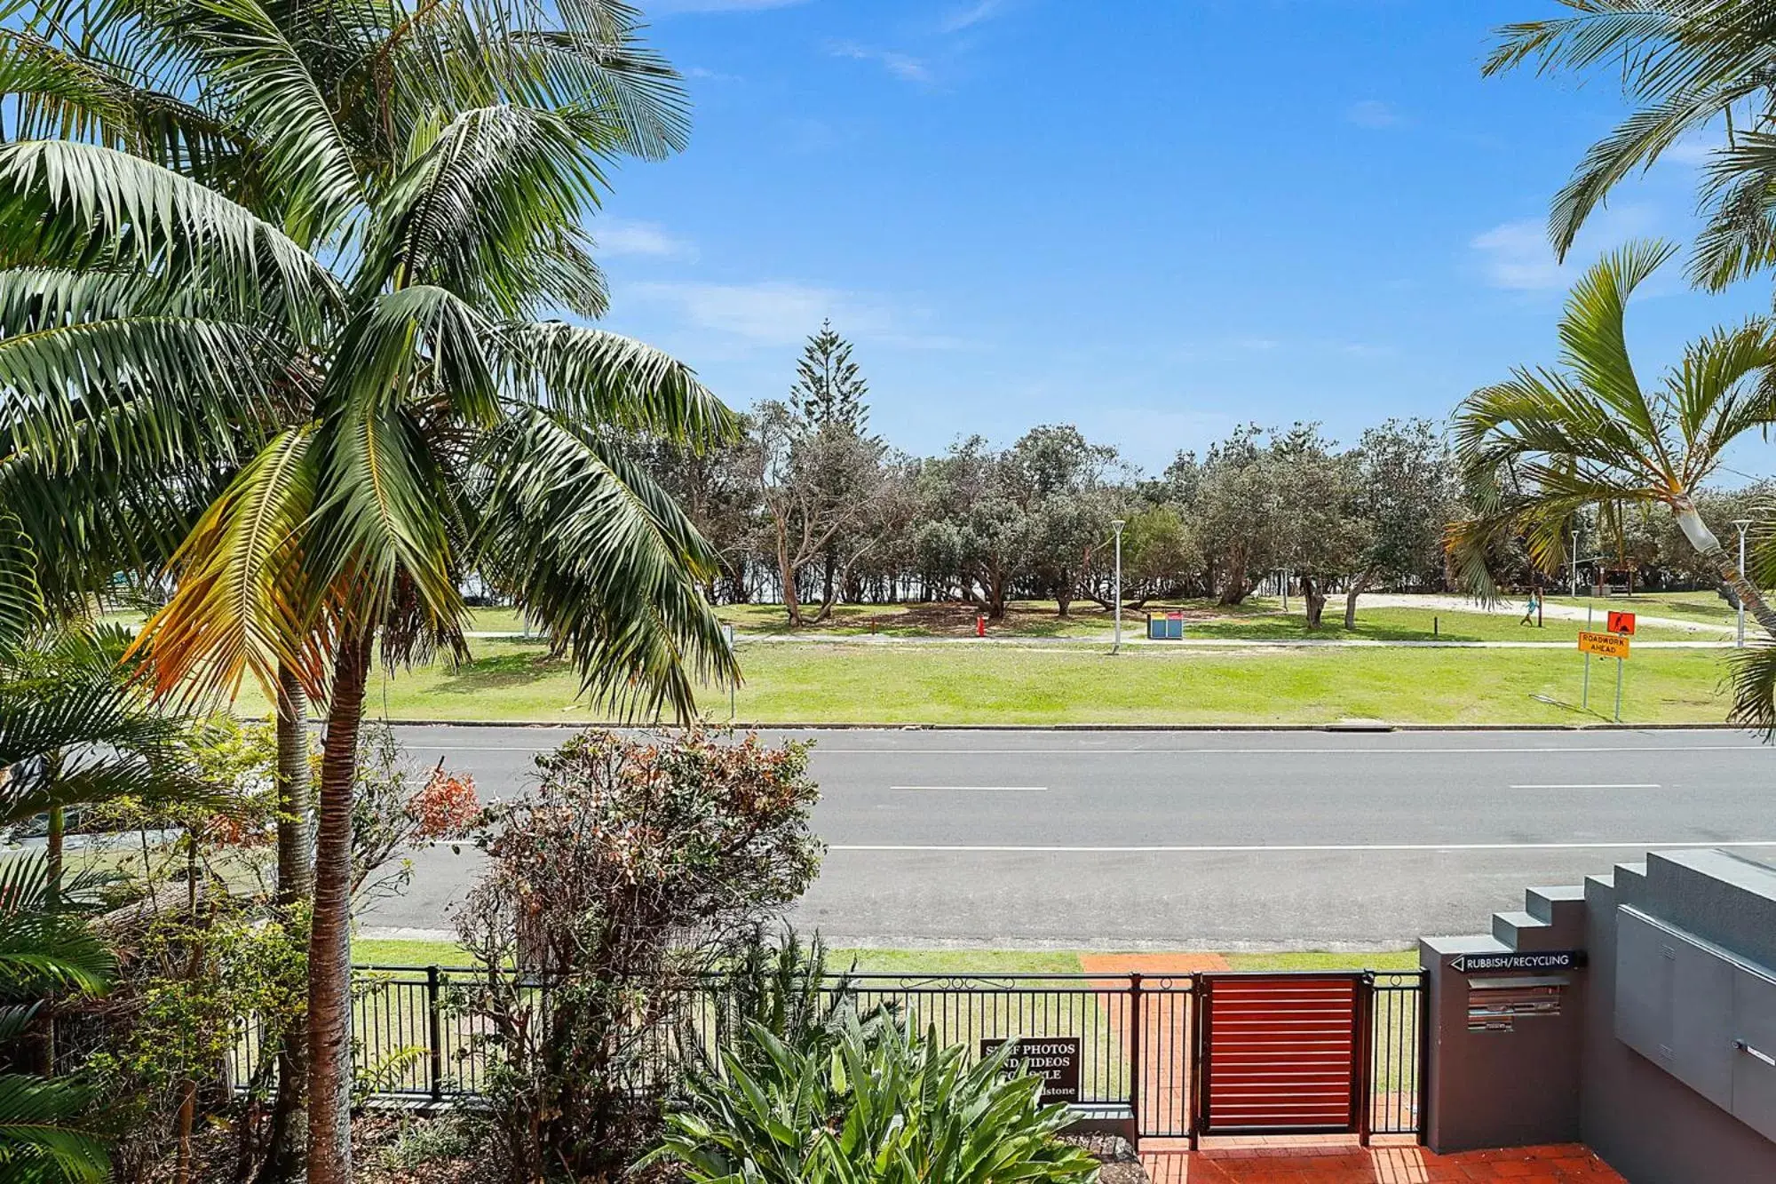
{"type": "MultiPolygon", "coordinates": [[[[314,892],[314,852],[309,850],[309,699],[295,670],[277,672],[277,908],[286,924],[314,892]]],[[[266,1184],[302,1177],[307,1113],[307,1031],[291,1024],[277,1049],[277,1100],[259,1179],[266,1184]]]]}

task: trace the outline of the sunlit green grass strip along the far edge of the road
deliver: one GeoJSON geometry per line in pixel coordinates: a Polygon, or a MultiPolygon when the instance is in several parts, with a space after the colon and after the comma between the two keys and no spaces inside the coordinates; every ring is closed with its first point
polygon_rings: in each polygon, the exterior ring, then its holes
{"type": "MultiPolygon", "coordinates": [[[[1543,631],[1547,633],[1547,631],[1543,631]]],[[[602,718],[542,642],[481,640],[460,667],[375,677],[371,715],[440,720],[602,718]]],[[[1611,706],[1614,668],[1595,661],[1590,715],[1577,711],[1581,658],[1538,649],[1206,651],[753,645],[735,718],[749,724],[1584,724],[1611,706]],[[1556,700],[1556,706],[1536,699],[1556,700]]],[[[1623,720],[1726,718],[1721,651],[1637,651],[1623,720]]],[[[705,711],[728,718],[726,695],[705,711]]],[[[238,709],[265,711],[243,695],[238,709]]]]}

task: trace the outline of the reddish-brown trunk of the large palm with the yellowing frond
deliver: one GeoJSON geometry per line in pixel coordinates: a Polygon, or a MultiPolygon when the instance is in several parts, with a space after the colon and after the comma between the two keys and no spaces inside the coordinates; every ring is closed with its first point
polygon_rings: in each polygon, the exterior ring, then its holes
{"type": "Polygon", "coordinates": [[[309,930],[309,1184],[352,1182],[352,791],[371,629],[339,638],[321,741],[309,930]]]}

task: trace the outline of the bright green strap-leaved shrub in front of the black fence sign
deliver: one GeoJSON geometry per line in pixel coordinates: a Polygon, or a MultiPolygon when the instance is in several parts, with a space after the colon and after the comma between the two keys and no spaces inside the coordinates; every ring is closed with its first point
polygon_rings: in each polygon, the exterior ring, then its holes
{"type": "Polygon", "coordinates": [[[693,1184],[1098,1179],[1098,1163],[1057,1138],[1066,1108],[1041,1106],[1037,1077],[1005,1077],[1005,1051],[970,1065],[936,1033],[854,1015],[828,1051],[794,1049],[757,1022],[748,1040],[760,1056],[730,1051],[719,1072],[691,1076],[643,1163],[678,1163],[693,1184]]]}

